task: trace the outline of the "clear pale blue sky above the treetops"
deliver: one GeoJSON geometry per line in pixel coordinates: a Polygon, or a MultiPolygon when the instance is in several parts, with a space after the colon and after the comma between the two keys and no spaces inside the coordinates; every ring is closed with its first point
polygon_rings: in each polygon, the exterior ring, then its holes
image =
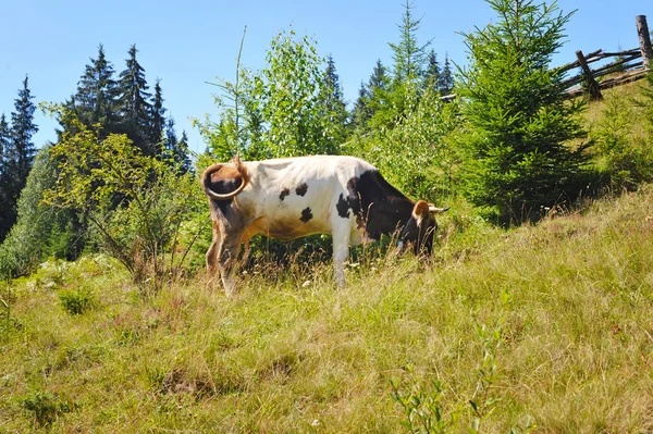
{"type": "MultiPolygon", "coordinates": [[[[116,72],[132,44],[146,70],[148,83],[161,79],[165,107],[174,116],[177,133],[186,129],[190,149],[205,144],[189,117],[215,114],[207,82],[231,79],[243,29],[247,36],[242,63],[264,66],[272,38],[292,25],[299,35],[317,41],[321,55],[332,54],[352,102],[361,80],[368,79],[377,59],[391,65],[389,42],[397,41],[403,0],[330,1],[194,1],[113,0],[8,0],[0,15],[0,113],[10,116],[25,74],[35,102],[60,102],[76,89],[77,80],[104,46],[116,72]]],[[[555,64],[575,59],[576,50],[616,50],[638,47],[636,15],[648,15],[653,27],[651,0],[559,0],[564,12],[577,10],[566,28],[567,44],[555,64]]],[[[467,59],[459,32],[473,32],[495,21],[482,0],[415,0],[414,13],[422,18],[419,38],[432,39],[442,61],[445,52],[458,64],[467,59]]],[[[56,137],[57,123],[36,114],[37,147],[56,137]]]]}

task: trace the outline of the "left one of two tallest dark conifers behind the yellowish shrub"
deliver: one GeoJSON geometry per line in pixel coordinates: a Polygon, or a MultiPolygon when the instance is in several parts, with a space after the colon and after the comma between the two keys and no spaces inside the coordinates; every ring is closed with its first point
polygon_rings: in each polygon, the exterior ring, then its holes
{"type": "Polygon", "coordinates": [[[113,79],[113,66],[107,61],[104,48],[98,47],[98,58],[90,59],[77,84],[77,92],[71,100],[84,124],[101,124],[100,138],[112,133],[118,124],[118,83],[113,79]]]}

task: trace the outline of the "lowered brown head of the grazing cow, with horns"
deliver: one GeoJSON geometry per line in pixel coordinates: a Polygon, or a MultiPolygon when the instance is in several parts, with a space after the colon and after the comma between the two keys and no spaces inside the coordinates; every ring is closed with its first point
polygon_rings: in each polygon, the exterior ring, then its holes
{"type": "Polygon", "coordinates": [[[435,208],[423,200],[415,203],[410,219],[399,234],[399,248],[411,245],[415,255],[431,255],[433,251],[433,236],[438,230],[438,223],[433,214],[446,210],[448,208],[435,208]]]}

